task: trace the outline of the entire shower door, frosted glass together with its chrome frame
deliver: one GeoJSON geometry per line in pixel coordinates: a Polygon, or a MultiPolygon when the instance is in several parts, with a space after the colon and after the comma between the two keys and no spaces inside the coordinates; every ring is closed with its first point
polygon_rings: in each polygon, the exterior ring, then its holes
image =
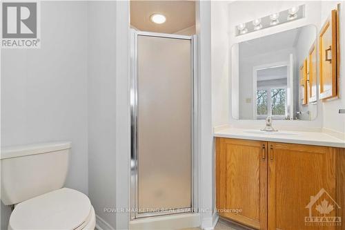
{"type": "Polygon", "coordinates": [[[130,39],[131,220],[196,212],[196,37],[130,39]]]}

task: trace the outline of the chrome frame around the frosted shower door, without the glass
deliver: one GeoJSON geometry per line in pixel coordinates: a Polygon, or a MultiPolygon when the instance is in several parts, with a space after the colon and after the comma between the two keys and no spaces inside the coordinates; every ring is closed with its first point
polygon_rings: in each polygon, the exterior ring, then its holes
{"type": "Polygon", "coordinates": [[[137,218],[145,218],[159,215],[171,215],[177,213],[196,213],[198,212],[197,205],[197,185],[198,185],[198,173],[197,173],[197,130],[198,130],[198,82],[197,82],[197,35],[184,36],[184,35],[171,35],[156,32],[142,32],[131,29],[130,30],[130,220],[135,220],[137,218]],[[137,41],[138,36],[148,36],[148,37],[162,37],[170,39],[184,39],[190,40],[190,73],[192,80],[192,116],[191,119],[191,140],[192,140],[192,165],[191,165],[191,204],[190,209],[186,211],[174,209],[171,211],[157,211],[149,213],[138,213],[138,95],[137,95],[137,77],[138,77],[138,54],[137,54],[137,41]]]}

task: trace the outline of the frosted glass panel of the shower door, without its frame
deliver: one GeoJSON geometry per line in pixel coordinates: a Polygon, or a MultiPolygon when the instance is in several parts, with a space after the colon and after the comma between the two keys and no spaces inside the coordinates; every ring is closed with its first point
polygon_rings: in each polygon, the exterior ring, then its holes
{"type": "Polygon", "coordinates": [[[137,37],[138,213],[192,200],[191,40],[137,37]]]}

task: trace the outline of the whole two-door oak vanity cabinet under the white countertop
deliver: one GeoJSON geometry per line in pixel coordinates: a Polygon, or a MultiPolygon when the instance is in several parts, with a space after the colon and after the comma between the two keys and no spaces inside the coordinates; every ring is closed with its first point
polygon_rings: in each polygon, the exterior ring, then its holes
{"type": "Polygon", "coordinates": [[[344,153],[344,148],[216,137],[219,215],[254,229],[344,229],[345,224],[306,222],[323,216],[322,210],[344,219],[339,209],[345,207],[344,153]]]}

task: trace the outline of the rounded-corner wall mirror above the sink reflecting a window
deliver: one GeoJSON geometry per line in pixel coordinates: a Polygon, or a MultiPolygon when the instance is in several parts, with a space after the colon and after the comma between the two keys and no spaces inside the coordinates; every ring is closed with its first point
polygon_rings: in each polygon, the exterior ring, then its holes
{"type": "Polygon", "coordinates": [[[316,26],[235,44],[231,101],[235,119],[315,119],[316,26]]]}

